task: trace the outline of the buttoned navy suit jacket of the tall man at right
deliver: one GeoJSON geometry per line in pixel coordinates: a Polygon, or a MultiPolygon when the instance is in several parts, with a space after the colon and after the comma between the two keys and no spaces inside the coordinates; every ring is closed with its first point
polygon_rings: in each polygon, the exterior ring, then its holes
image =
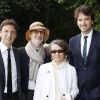
{"type": "Polygon", "coordinates": [[[69,41],[70,64],[75,66],[78,76],[79,95],[85,100],[100,100],[100,33],[93,31],[87,62],[81,55],[81,35],[69,41]]]}

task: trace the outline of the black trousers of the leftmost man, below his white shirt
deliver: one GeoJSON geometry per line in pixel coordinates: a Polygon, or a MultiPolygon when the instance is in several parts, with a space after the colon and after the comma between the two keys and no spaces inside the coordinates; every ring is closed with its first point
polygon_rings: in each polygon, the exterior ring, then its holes
{"type": "Polygon", "coordinates": [[[15,92],[11,95],[7,94],[7,93],[4,93],[3,94],[3,100],[19,100],[19,97],[18,97],[18,93],[15,92]]]}

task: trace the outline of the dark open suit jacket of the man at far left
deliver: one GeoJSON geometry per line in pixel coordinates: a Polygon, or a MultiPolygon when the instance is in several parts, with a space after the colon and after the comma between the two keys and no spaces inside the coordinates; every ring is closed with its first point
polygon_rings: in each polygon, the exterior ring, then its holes
{"type": "MultiPolygon", "coordinates": [[[[17,49],[13,48],[13,51],[14,51],[14,56],[16,61],[16,68],[17,68],[18,95],[19,95],[19,100],[22,100],[21,99],[22,90],[21,90],[21,73],[20,73],[20,68],[21,68],[20,55],[17,49]]],[[[0,100],[3,100],[4,88],[5,88],[5,68],[4,68],[4,62],[0,51],[0,100]]]]}

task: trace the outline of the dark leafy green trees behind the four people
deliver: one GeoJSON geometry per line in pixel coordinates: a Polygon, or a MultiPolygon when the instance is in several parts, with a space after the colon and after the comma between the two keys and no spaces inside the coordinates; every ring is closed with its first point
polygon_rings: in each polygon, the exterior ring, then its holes
{"type": "Polygon", "coordinates": [[[100,31],[100,0],[0,0],[0,22],[12,18],[18,23],[15,47],[26,45],[24,35],[34,21],[41,21],[50,29],[47,43],[56,38],[69,41],[80,32],[74,20],[74,10],[81,4],[93,8],[94,28],[100,31]]]}

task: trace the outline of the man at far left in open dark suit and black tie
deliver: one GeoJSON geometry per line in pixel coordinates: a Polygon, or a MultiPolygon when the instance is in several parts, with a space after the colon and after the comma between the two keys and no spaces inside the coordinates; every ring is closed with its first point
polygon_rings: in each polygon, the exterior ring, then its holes
{"type": "Polygon", "coordinates": [[[22,100],[21,62],[18,50],[12,47],[17,37],[14,20],[6,19],[1,23],[0,37],[0,100],[22,100]]]}

